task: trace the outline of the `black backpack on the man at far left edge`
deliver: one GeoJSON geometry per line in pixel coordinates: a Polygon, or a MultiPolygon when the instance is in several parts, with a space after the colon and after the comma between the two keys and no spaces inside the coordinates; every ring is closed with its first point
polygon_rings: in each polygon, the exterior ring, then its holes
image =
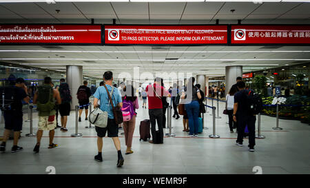
{"type": "Polygon", "coordinates": [[[14,110],[17,108],[16,90],[13,85],[0,87],[0,107],[2,111],[14,110]]]}

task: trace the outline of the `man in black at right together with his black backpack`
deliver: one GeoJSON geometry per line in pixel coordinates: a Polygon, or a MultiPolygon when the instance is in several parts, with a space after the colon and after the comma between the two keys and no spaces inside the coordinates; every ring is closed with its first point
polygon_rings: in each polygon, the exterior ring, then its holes
{"type": "Polygon", "coordinates": [[[237,83],[239,92],[234,95],[234,116],[238,123],[236,145],[242,147],[245,127],[249,130],[249,152],[254,152],[256,114],[262,110],[262,99],[253,90],[245,90],[245,82],[237,83]]]}

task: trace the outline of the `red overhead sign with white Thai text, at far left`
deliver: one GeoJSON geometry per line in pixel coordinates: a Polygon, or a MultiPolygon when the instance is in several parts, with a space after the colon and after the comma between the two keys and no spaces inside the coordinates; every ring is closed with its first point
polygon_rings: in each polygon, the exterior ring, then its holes
{"type": "Polygon", "coordinates": [[[0,25],[0,44],[101,44],[101,25],[0,25]]]}

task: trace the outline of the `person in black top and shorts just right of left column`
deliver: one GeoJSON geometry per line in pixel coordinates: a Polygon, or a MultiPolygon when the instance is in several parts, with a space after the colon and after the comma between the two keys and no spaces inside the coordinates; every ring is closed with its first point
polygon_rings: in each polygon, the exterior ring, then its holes
{"type": "Polygon", "coordinates": [[[87,119],[88,115],[88,105],[90,103],[90,96],[92,95],[92,92],[90,92],[90,87],[87,87],[88,82],[83,81],[83,85],[81,85],[76,93],[76,96],[79,100],[79,122],[81,122],[81,115],[83,112],[83,109],[85,108],[85,120],[87,119]]]}

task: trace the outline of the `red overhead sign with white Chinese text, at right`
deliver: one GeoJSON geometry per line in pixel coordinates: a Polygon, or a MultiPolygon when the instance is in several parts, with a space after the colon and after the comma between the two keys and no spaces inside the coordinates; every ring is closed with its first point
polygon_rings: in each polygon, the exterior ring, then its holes
{"type": "Polygon", "coordinates": [[[309,44],[310,25],[231,25],[231,44],[309,44]]]}

